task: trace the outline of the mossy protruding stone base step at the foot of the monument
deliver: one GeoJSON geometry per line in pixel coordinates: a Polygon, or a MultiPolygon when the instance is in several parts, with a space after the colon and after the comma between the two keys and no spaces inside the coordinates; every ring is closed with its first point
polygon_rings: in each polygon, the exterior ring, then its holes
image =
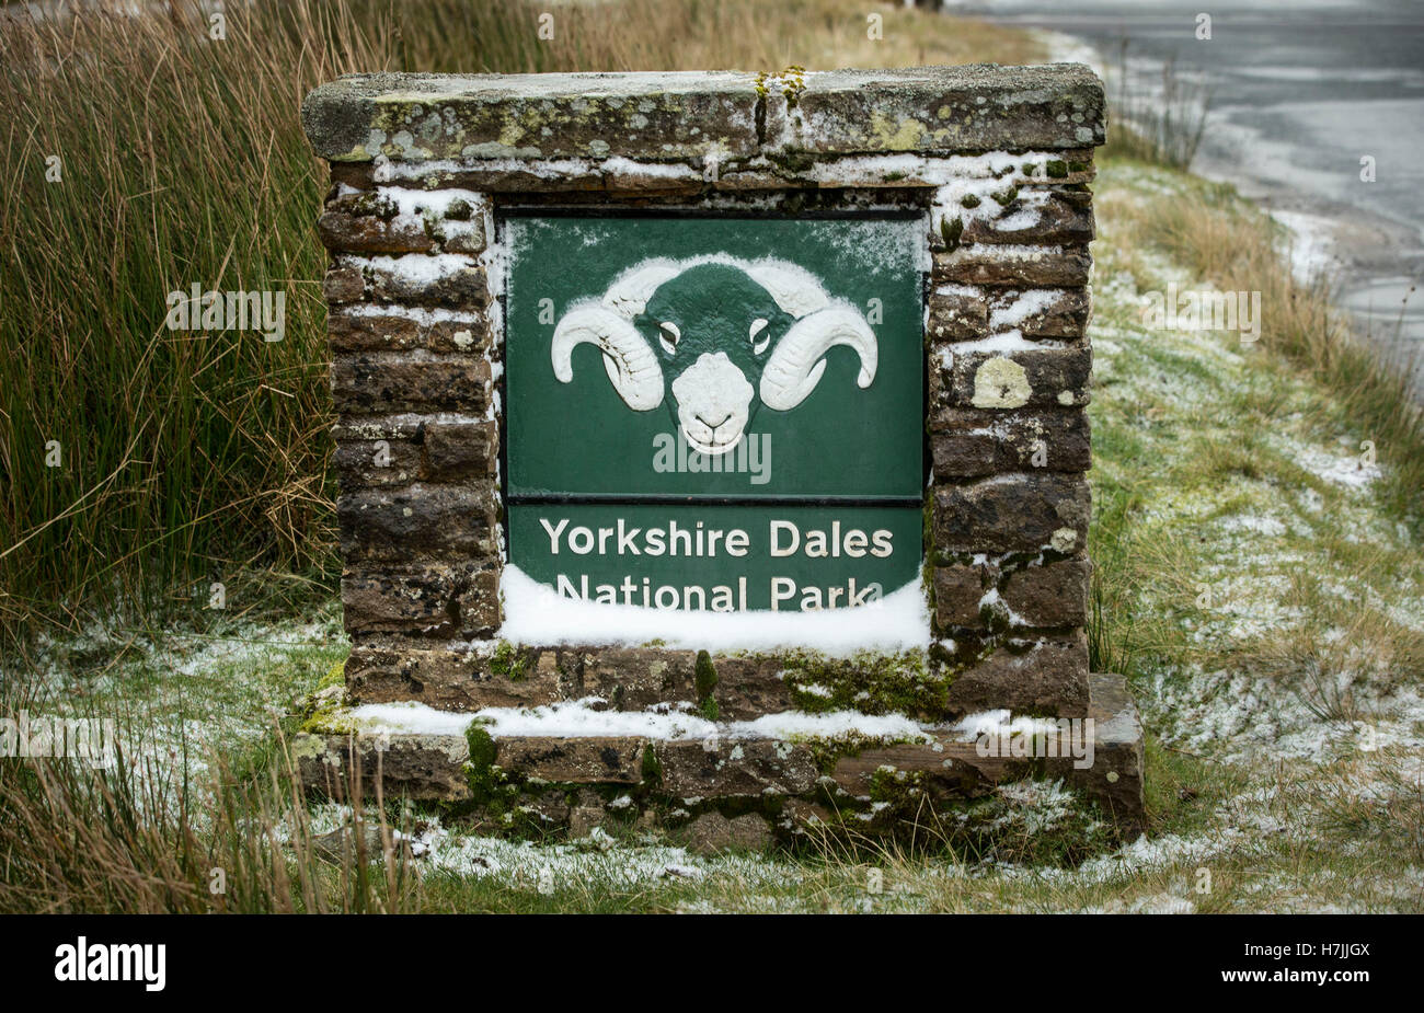
{"type": "MultiPolygon", "coordinates": [[[[930,740],[847,736],[817,740],[656,740],[638,736],[491,738],[459,734],[299,734],[290,746],[313,792],[463,804],[506,825],[587,832],[604,818],[706,827],[749,839],[743,815],[787,832],[854,818],[857,828],[911,812],[963,808],[1024,778],[1062,780],[1096,802],[1125,837],[1145,827],[1142,724],[1121,676],[1091,677],[1091,723],[1061,723],[1059,737],[963,741],[948,727],[930,740]],[[728,817],[733,817],[728,820],[728,817]],[[726,829],[726,828],[723,828],[726,829]],[[735,832],[733,832],[735,831],[735,832]]],[[[715,837],[715,834],[713,834],[715,837]]],[[[755,835],[750,835],[755,837],[755,835]]]]}

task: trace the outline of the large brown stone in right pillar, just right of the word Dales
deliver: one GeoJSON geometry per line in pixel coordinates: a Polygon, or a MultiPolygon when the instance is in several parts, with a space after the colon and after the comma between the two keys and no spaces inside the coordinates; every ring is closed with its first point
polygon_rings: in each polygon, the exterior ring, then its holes
{"type": "Polygon", "coordinates": [[[944,552],[1078,552],[1088,538],[1088,482],[1004,475],[934,491],[934,548],[944,552]]]}

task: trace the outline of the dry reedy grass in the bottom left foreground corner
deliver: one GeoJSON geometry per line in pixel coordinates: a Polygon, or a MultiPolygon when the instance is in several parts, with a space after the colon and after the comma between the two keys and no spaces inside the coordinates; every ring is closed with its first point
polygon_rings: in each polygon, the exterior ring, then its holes
{"type": "Polygon", "coordinates": [[[4,764],[0,912],[419,909],[413,858],[384,807],[353,807],[339,841],[323,839],[281,761],[241,777],[218,763],[205,784],[175,780],[154,757],[121,754],[107,771],[71,758],[4,764]]]}

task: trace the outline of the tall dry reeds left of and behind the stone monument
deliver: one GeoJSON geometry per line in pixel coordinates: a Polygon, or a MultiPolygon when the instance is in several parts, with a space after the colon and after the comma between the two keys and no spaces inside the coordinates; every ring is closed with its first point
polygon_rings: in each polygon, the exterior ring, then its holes
{"type": "Polygon", "coordinates": [[[37,616],[202,605],[241,569],[330,586],[325,169],[298,121],[319,81],[1040,55],[883,6],[871,40],[853,0],[558,4],[540,40],[545,7],[253,0],[229,4],[222,40],[188,0],[0,17],[0,640],[37,616]],[[167,295],[194,283],[285,293],[285,339],[168,330],[167,295]]]}

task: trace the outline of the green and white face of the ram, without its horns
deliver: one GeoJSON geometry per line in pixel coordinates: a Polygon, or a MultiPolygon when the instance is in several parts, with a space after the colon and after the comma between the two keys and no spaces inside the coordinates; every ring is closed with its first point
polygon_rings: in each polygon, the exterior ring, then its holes
{"type": "Polygon", "coordinates": [[[793,323],[766,289],[728,265],[689,267],[658,286],[635,324],[672,377],[678,428],[693,450],[736,447],[756,410],[753,381],[793,323]]]}

